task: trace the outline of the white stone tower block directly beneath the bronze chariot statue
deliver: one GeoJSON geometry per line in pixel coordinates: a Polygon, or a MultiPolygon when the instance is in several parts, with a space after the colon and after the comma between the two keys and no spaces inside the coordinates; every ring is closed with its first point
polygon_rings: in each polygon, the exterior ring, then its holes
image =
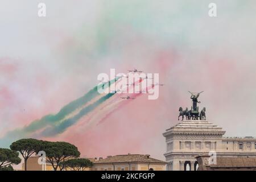
{"type": "Polygon", "coordinates": [[[178,171],[183,171],[184,164],[190,163],[193,171],[195,157],[208,154],[213,148],[212,143],[216,143],[216,147],[221,148],[221,139],[224,134],[225,131],[221,127],[208,121],[181,121],[163,134],[166,143],[172,144],[172,148],[167,147],[169,151],[164,154],[166,161],[172,162],[172,170],[178,171]]]}

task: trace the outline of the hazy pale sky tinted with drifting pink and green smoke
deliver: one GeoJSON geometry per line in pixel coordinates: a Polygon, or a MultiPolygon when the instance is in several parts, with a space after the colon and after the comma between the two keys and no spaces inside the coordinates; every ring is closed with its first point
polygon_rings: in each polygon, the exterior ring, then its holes
{"type": "Polygon", "coordinates": [[[58,113],[111,68],[159,73],[165,85],[157,100],[145,94],[109,106],[113,97],[104,102],[106,111],[37,138],[73,143],[86,157],[132,153],[164,160],[162,133],[178,122],[180,106],[191,107],[188,90],[204,91],[199,107],[226,136],[256,137],[256,2],[216,0],[214,18],[211,2],[2,0],[0,139],[58,113]],[[40,2],[46,17],[38,16],[40,2]]]}

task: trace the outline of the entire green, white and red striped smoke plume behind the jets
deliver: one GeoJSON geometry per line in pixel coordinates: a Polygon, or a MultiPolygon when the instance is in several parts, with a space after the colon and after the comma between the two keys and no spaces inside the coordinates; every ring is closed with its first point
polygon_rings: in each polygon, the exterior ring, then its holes
{"type": "MultiPolygon", "coordinates": [[[[109,88],[111,84],[117,82],[118,79],[110,81],[110,84],[99,84],[102,88],[109,88]]],[[[134,84],[141,84],[143,79],[135,81],[134,84]]],[[[16,129],[10,131],[0,140],[0,144],[10,144],[19,138],[42,138],[53,137],[57,134],[65,133],[71,126],[79,127],[79,129],[87,130],[90,127],[97,125],[101,121],[104,121],[108,115],[112,114],[122,103],[129,103],[129,101],[120,100],[117,97],[113,97],[115,93],[98,93],[98,86],[95,86],[92,90],[86,93],[83,97],[71,102],[67,106],[64,106],[59,113],[55,115],[46,115],[42,119],[32,122],[30,125],[23,127],[22,129],[16,129]],[[82,123],[78,121],[82,120],[82,123]]],[[[131,86],[126,86],[130,88],[131,86]]],[[[121,94],[123,95],[123,94],[121,94]]],[[[134,94],[139,96],[140,94],[134,94]]],[[[73,131],[73,130],[72,130],[73,131]]]]}

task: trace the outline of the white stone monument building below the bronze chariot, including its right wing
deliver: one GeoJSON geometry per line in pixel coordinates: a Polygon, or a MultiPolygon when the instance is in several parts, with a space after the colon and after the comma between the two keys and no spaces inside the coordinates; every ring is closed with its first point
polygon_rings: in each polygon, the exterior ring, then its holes
{"type": "Polygon", "coordinates": [[[196,157],[217,155],[223,158],[256,157],[256,139],[225,138],[221,127],[205,120],[184,120],[163,133],[166,138],[167,170],[195,171],[196,157]]]}

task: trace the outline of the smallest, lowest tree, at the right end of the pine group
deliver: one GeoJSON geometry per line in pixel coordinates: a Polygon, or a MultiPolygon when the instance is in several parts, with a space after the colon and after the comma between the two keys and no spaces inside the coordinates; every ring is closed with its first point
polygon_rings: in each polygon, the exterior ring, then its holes
{"type": "Polygon", "coordinates": [[[84,158],[79,159],[69,159],[60,163],[60,166],[63,166],[65,169],[71,169],[73,171],[84,171],[85,168],[92,167],[93,163],[84,158]]]}

